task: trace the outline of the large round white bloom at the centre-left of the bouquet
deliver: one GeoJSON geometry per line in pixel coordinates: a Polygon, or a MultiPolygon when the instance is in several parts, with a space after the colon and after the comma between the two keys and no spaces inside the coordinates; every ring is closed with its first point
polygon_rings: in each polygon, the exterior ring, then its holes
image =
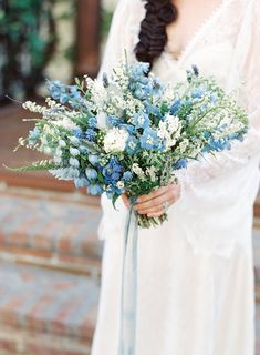
{"type": "Polygon", "coordinates": [[[127,139],[128,132],[124,129],[113,128],[108,130],[104,138],[105,152],[123,152],[127,139]]]}

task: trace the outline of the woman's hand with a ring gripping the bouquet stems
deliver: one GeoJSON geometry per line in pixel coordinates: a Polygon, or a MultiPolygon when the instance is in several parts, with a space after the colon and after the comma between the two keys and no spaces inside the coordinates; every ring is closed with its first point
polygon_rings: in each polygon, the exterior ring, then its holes
{"type": "MultiPolygon", "coordinates": [[[[167,202],[168,206],[174,204],[180,196],[180,185],[169,184],[150,192],[148,195],[142,195],[135,203],[134,211],[139,214],[147,214],[148,217],[158,217],[166,211],[164,203],[167,202]]],[[[122,199],[127,207],[129,207],[129,199],[126,194],[122,199]]]]}

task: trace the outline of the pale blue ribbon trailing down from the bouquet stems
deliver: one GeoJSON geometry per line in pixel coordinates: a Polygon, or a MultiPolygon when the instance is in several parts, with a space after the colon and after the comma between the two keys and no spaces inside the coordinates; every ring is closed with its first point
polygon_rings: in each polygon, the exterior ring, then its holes
{"type": "Polygon", "coordinates": [[[135,355],[137,308],[137,217],[131,197],[124,235],[118,355],[135,355]]]}

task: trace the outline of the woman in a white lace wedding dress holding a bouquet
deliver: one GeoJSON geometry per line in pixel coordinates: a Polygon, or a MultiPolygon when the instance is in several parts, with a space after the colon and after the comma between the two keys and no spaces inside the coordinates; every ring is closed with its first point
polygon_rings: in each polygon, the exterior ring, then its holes
{"type": "MultiPolygon", "coordinates": [[[[127,51],[164,82],[196,64],[248,111],[250,130],[231,151],[178,171],[179,184],[141,196],[138,213],[168,221],[138,235],[136,355],[253,355],[252,207],[260,160],[260,1],[121,0],[100,71],[127,51]]],[[[124,223],[102,196],[105,240],[92,355],[116,355],[124,223]]]]}

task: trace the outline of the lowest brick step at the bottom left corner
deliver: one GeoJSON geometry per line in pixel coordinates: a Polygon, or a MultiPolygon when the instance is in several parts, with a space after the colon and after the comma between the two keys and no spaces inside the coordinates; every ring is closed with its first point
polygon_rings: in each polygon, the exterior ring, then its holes
{"type": "Polygon", "coordinates": [[[95,280],[0,262],[0,348],[13,355],[87,355],[97,302],[95,280]]]}

